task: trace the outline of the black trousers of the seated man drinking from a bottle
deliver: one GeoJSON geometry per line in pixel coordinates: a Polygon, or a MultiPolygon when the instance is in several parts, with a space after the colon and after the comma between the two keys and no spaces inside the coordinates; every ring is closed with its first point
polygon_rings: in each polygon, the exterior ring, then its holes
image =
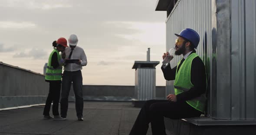
{"type": "Polygon", "coordinates": [[[186,102],[148,100],[141,108],[129,135],[146,135],[149,123],[151,123],[152,135],[166,135],[164,117],[182,119],[200,115],[200,111],[186,102]]]}

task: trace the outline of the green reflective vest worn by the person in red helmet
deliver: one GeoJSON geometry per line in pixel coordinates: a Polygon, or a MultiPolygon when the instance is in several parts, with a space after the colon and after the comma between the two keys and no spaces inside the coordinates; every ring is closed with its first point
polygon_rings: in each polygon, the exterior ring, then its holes
{"type": "Polygon", "coordinates": [[[59,51],[57,49],[54,49],[48,59],[48,64],[47,64],[47,68],[46,68],[46,76],[45,79],[46,80],[61,80],[61,76],[62,76],[62,66],[59,66],[57,68],[53,68],[53,66],[51,66],[52,63],[52,56],[53,53],[56,52],[57,56],[58,56],[58,61],[60,61],[60,55],[59,55],[59,51]]]}

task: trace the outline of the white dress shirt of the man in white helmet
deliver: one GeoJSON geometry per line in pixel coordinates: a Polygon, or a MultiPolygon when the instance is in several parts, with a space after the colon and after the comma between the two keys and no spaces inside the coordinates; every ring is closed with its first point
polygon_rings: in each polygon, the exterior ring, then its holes
{"type": "MultiPolygon", "coordinates": [[[[69,58],[70,52],[71,52],[71,48],[67,47],[65,49],[66,59],[69,58]]],[[[86,66],[86,64],[87,64],[87,58],[85,55],[85,51],[79,46],[76,46],[74,48],[70,59],[79,59],[79,60],[81,60],[81,64],[75,64],[75,63],[66,64],[64,66],[64,71],[79,71],[82,69],[82,66],[86,66]]]]}

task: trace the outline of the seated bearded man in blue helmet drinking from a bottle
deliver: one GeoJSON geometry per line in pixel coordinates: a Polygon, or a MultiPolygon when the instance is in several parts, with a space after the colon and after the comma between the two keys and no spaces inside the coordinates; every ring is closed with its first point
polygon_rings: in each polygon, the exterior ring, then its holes
{"type": "MultiPolygon", "coordinates": [[[[146,135],[149,123],[153,135],[166,135],[164,117],[182,119],[204,113],[206,71],[195,51],[200,37],[193,29],[184,29],[175,35],[178,37],[175,55],[182,54],[183,58],[174,68],[170,64],[161,67],[164,78],[174,80],[175,94],[169,94],[167,100],[148,100],[141,108],[130,135],[146,135]]],[[[164,53],[163,59],[168,55],[168,52],[164,53]]]]}

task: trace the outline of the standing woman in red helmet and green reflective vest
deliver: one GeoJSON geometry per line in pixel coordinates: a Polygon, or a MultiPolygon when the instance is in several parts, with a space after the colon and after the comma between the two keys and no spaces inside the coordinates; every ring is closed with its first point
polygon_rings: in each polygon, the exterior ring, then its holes
{"type": "Polygon", "coordinates": [[[59,116],[59,95],[61,90],[61,77],[62,66],[64,64],[65,53],[62,57],[59,52],[65,52],[67,46],[67,40],[65,38],[59,38],[53,42],[53,51],[51,52],[47,68],[46,68],[46,82],[49,82],[49,94],[46,99],[46,105],[43,110],[44,119],[64,120],[59,116]],[[49,115],[51,104],[53,103],[53,116],[49,115]]]}

